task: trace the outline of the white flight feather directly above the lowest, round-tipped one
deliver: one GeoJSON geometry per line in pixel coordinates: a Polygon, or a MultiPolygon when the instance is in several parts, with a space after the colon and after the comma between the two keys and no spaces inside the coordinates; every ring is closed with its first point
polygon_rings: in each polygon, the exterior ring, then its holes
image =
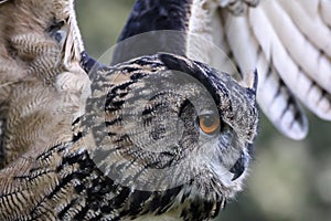
{"type": "MultiPolygon", "coordinates": [[[[275,25],[268,20],[268,10],[265,10],[265,7],[249,10],[249,22],[254,34],[268,61],[273,61],[275,69],[286,85],[311,112],[321,118],[331,119],[330,95],[317,82],[310,78],[290,56],[278,38],[275,25]],[[299,82],[301,84],[298,84],[299,82]],[[303,88],[302,85],[309,86],[303,88]]],[[[301,53],[305,53],[305,51],[301,51],[301,53]]]]}

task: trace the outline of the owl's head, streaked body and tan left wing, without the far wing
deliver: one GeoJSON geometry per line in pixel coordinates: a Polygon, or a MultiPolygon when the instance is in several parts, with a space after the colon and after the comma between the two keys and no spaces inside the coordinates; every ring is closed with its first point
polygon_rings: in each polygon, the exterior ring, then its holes
{"type": "Polygon", "coordinates": [[[13,82],[0,220],[207,220],[242,189],[256,72],[238,82],[170,53],[106,66],[84,52],[72,0],[0,12],[1,76],[13,82]]]}

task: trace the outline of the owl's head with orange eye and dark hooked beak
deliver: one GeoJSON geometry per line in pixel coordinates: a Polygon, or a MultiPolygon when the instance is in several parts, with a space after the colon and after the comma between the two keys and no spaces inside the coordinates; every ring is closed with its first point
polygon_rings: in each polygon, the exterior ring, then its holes
{"type": "Polygon", "coordinates": [[[132,190],[185,187],[213,201],[241,189],[258,122],[254,87],[171,54],[95,73],[84,124],[106,176],[132,190]]]}

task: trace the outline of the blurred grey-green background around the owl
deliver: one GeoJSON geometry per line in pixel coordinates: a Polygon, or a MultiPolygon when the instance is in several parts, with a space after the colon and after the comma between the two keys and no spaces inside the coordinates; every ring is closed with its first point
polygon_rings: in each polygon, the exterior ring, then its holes
{"type": "MultiPolygon", "coordinates": [[[[134,0],[76,0],[90,55],[99,57],[116,43],[132,4],[134,0]]],[[[309,118],[308,138],[293,141],[261,116],[250,176],[220,220],[331,220],[331,123],[309,118]]]]}

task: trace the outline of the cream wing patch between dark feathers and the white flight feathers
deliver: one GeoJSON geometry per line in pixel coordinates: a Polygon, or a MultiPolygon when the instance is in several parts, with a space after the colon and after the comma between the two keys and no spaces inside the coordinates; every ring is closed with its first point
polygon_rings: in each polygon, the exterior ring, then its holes
{"type": "Polygon", "coordinates": [[[192,60],[207,63],[221,72],[236,75],[236,67],[228,57],[231,51],[225,40],[217,7],[214,1],[193,0],[186,55],[192,60]]]}

